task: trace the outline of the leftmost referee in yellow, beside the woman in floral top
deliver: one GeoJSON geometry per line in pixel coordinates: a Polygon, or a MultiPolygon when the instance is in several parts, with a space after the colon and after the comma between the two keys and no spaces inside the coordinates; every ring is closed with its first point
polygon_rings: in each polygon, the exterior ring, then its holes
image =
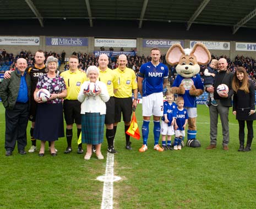
{"type": "MultiPolygon", "coordinates": [[[[64,98],[63,102],[68,144],[66,151],[64,151],[65,154],[72,152],[73,123],[77,124],[77,138],[79,138],[81,133],[81,103],[77,100],[77,97],[81,85],[87,80],[87,76],[86,73],[78,69],[78,63],[78,57],[72,55],[69,58],[69,70],[61,73],[67,86],[67,97],[64,98]]],[[[82,154],[83,152],[82,144],[79,144],[77,153],[82,154]]]]}

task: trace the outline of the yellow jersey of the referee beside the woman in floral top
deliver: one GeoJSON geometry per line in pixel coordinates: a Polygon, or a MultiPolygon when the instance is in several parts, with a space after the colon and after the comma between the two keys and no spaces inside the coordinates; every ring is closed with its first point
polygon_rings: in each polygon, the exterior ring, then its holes
{"type": "Polygon", "coordinates": [[[76,70],[71,72],[70,70],[61,73],[65,84],[67,86],[67,97],[65,100],[77,100],[77,96],[80,91],[81,85],[87,80],[86,73],[76,70]]]}

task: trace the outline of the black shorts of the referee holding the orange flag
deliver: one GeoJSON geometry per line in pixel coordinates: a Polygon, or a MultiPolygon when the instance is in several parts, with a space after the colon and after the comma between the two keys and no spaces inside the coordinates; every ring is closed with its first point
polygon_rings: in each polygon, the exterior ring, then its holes
{"type": "Polygon", "coordinates": [[[121,122],[121,114],[123,113],[123,121],[130,122],[133,113],[133,99],[115,97],[115,123],[121,122]]]}

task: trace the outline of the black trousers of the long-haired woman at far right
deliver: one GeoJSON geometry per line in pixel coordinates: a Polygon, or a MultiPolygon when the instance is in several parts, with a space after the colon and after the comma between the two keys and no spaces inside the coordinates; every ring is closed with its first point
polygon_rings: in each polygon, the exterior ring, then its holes
{"type": "Polygon", "coordinates": [[[253,120],[238,120],[240,145],[244,144],[244,128],[247,124],[247,144],[250,146],[253,140],[253,120]]]}

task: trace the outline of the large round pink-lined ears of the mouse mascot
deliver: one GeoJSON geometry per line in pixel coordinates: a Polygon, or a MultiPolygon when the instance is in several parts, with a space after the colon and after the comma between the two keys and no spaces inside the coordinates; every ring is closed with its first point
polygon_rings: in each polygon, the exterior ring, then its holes
{"type": "Polygon", "coordinates": [[[192,50],[188,48],[183,50],[182,46],[176,43],[166,53],[166,61],[170,65],[176,65],[182,56],[193,56],[197,59],[197,63],[201,65],[206,65],[211,61],[211,54],[203,43],[195,43],[192,50]]]}

